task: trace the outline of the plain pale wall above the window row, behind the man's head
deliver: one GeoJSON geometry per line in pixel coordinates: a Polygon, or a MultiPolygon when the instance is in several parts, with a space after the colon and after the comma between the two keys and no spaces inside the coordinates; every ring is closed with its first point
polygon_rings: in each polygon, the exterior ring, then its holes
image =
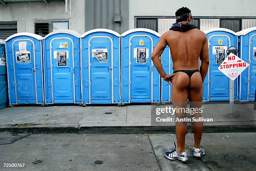
{"type": "Polygon", "coordinates": [[[198,17],[256,17],[256,0],[129,0],[129,29],[135,16],[175,16],[183,6],[198,17]]]}

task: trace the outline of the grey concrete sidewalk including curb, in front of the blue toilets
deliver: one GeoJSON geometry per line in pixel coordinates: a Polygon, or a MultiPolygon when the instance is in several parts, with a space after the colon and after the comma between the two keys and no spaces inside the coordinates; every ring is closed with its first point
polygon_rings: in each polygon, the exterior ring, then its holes
{"type": "MultiPolygon", "coordinates": [[[[157,106],[164,107],[164,106],[157,106]]],[[[23,106],[0,109],[0,131],[34,133],[174,133],[175,122],[167,126],[151,124],[148,105],[118,106],[23,106]]],[[[235,104],[234,116],[228,115],[229,104],[203,104],[205,132],[256,130],[253,104],[235,104]]],[[[153,113],[155,114],[155,113],[153,113]]],[[[174,115],[166,115],[166,117],[174,115]]]]}

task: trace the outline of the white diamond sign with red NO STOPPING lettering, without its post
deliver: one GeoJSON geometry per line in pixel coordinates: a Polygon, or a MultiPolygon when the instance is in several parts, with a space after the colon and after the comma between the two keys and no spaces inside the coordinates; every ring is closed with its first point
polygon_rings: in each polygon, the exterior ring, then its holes
{"type": "Polygon", "coordinates": [[[230,53],[228,57],[220,64],[218,69],[228,78],[235,80],[238,75],[249,66],[248,63],[240,59],[238,56],[230,53]]]}

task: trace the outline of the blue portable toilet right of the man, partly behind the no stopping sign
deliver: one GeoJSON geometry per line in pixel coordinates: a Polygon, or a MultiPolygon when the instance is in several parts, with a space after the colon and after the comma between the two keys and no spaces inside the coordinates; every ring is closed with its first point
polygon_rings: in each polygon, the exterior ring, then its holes
{"type": "MultiPolygon", "coordinates": [[[[229,101],[229,78],[218,67],[228,57],[230,46],[238,48],[238,36],[232,30],[215,28],[204,31],[208,39],[209,69],[204,80],[203,101],[229,101]],[[217,49],[223,49],[223,57],[216,57],[217,49]],[[225,57],[224,57],[225,56],[225,57]]],[[[218,52],[221,55],[221,52],[218,52]]],[[[238,79],[234,80],[234,100],[238,100],[238,79]]]]}

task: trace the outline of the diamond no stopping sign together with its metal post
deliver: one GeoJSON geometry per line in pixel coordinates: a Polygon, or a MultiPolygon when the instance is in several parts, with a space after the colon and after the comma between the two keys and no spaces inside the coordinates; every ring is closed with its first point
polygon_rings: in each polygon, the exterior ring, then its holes
{"type": "Polygon", "coordinates": [[[246,69],[249,64],[240,59],[236,47],[229,47],[227,50],[228,57],[220,64],[218,69],[229,77],[229,116],[234,114],[234,80],[246,69]]]}

